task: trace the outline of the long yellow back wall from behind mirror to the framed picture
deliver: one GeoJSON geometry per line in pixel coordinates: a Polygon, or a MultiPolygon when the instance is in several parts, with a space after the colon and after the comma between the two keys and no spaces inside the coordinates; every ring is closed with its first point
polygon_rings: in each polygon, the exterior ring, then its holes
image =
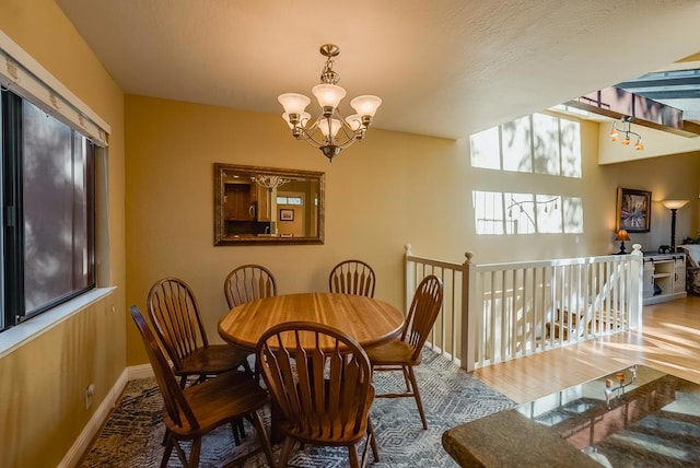
{"type": "MultiPolygon", "coordinates": [[[[698,191],[697,155],[599,166],[598,126],[582,122],[583,178],[471,168],[468,142],[371,129],[332,163],[294,141],[277,115],[126,97],[127,302],[145,306],[151,284],[165,276],[188,282],[200,302],[210,338],[226,311],[223,279],[235,266],[272,270],[280,293],[325,291],[330,268],[345,258],[369,261],[375,296],[402,306],[402,255],[463,261],[544,259],[617,251],[617,186],[651,190],[654,200],[674,188],[698,191]],[[300,168],[326,173],[326,243],[313,246],[213,246],[214,163],[300,168]],[[582,197],[584,233],[475,235],[471,190],[535,191],[582,197]]],[[[645,249],[667,244],[669,215],[654,203],[652,233],[632,234],[645,249]]],[[[693,209],[679,212],[678,235],[697,225],[693,209]]],[[[667,210],[665,210],[667,211],[667,210]]],[[[631,250],[631,244],[628,248],[631,250]]],[[[128,363],[145,362],[129,329],[128,363]]]]}

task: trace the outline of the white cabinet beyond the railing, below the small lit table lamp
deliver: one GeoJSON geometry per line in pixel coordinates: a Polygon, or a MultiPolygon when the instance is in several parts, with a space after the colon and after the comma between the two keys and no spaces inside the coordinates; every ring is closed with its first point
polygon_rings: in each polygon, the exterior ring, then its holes
{"type": "Polygon", "coordinates": [[[643,304],[686,296],[686,255],[644,254],[643,304]]]}

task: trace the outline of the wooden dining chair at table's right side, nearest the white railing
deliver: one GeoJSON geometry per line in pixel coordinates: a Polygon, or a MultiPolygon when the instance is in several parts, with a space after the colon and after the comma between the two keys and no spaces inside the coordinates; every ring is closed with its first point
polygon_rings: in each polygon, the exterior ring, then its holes
{"type": "Polygon", "coordinates": [[[376,397],[413,397],[423,429],[428,429],[428,421],[425,420],[425,411],[420,399],[413,367],[420,364],[423,344],[435,323],[435,318],[438,318],[442,307],[442,281],[433,274],[425,277],[416,289],[400,338],[366,349],[373,371],[401,371],[406,383],[406,393],[378,394],[376,397]]]}

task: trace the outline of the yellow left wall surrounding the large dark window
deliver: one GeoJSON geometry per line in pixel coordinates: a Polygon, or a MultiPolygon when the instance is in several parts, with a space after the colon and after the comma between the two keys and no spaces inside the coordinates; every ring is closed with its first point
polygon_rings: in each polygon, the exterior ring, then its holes
{"type": "Polygon", "coordinates": [[[124,94],[52,0],[0,0],[0,30],[112,127],[110,271],[100,281],[117,290],[0,359],[0,466],[48,467],[63,459],[126,366],[124,94]]]}

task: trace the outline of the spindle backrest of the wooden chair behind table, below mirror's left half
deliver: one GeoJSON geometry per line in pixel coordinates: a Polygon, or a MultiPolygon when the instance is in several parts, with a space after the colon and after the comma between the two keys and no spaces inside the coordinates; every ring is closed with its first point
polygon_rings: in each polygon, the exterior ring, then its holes
{"type": "Polygon", "coordinates": [[[277,295],[277,281],[272,272],[261,265],[243,265],[226,276],[223,293],[229,308],[233,308],[256,299],[277,295]]]}

